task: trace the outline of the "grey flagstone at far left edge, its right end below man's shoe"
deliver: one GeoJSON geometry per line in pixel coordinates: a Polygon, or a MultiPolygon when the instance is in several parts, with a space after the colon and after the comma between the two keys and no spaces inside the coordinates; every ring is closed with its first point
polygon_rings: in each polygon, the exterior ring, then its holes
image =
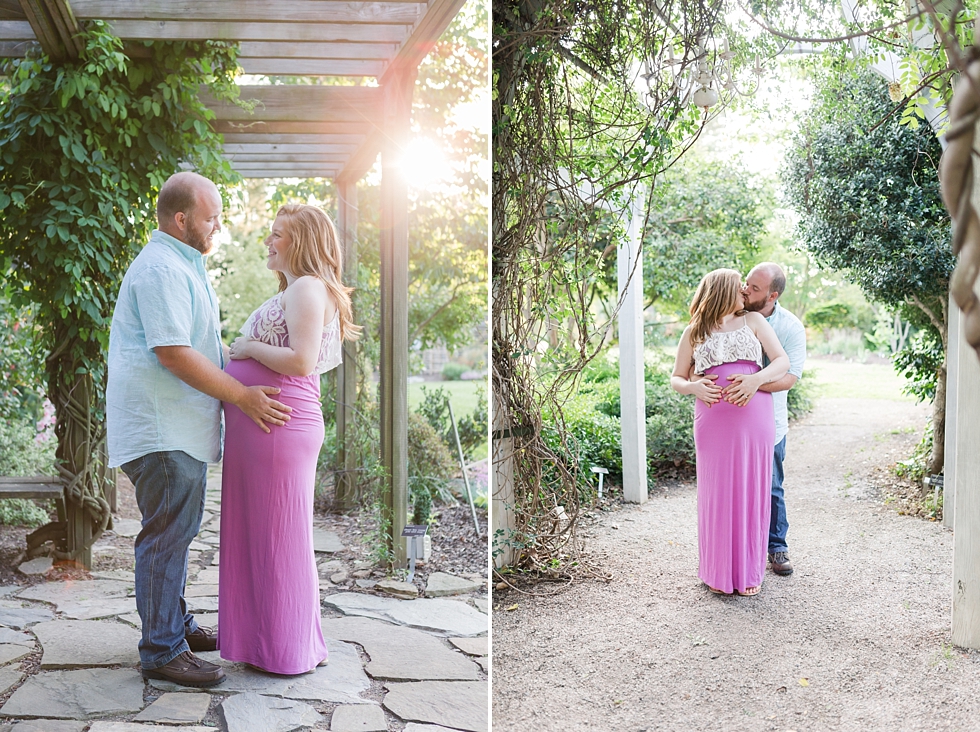
{"type": "Polygon", "coordinates": [[[143,679],[132,668],[51,671],[27,679],[0,708],[5,717],[93,719],[138,712],[143,679]]]}

